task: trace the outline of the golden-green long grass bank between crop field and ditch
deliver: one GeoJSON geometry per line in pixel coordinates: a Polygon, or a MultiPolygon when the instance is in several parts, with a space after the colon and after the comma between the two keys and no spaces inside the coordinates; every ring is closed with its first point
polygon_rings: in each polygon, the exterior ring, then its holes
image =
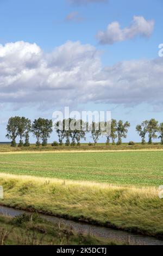
{"type": "Polygon", "coordinates": [[[163,238],[163,201],[156,188],[0,175],[1,205],[98,223],[163,238]]]}

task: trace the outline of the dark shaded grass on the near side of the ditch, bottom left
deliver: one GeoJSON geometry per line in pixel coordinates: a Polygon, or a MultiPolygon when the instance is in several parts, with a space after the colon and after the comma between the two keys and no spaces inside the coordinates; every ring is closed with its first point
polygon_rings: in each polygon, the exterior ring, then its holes
{"type": "Polygon", "coordinates": [[[116,245],[76,234],[64,225],[49,223],[37,214],[15,218],[0,215],[0,245],[116,245]]]}

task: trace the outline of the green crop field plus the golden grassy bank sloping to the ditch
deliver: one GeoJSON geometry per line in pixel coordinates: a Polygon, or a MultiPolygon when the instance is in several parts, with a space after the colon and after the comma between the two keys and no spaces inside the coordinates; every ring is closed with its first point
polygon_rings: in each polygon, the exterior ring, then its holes
{"type": "Polygon", "coordinates": [[[163,237],[163,151],[0,154],[0,204],[163,237]]]}

